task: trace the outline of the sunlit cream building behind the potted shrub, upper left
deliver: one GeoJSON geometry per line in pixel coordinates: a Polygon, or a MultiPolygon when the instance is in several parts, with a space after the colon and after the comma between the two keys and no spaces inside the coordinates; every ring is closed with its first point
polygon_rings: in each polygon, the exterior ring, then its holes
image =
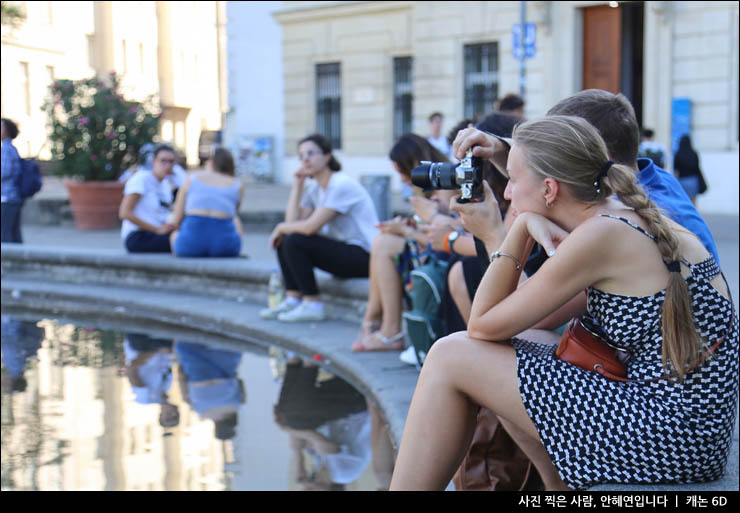
{"type": "Polygon", "coordinates": [[[18,122],[22,156],[50,157],[41,105],[55,79],[122,77],[131,100],[159,98],[160,137],[198,162],[201,130],[222,126],[224,2],[8,2],[2,27],[2,115],[18,122]]]}

